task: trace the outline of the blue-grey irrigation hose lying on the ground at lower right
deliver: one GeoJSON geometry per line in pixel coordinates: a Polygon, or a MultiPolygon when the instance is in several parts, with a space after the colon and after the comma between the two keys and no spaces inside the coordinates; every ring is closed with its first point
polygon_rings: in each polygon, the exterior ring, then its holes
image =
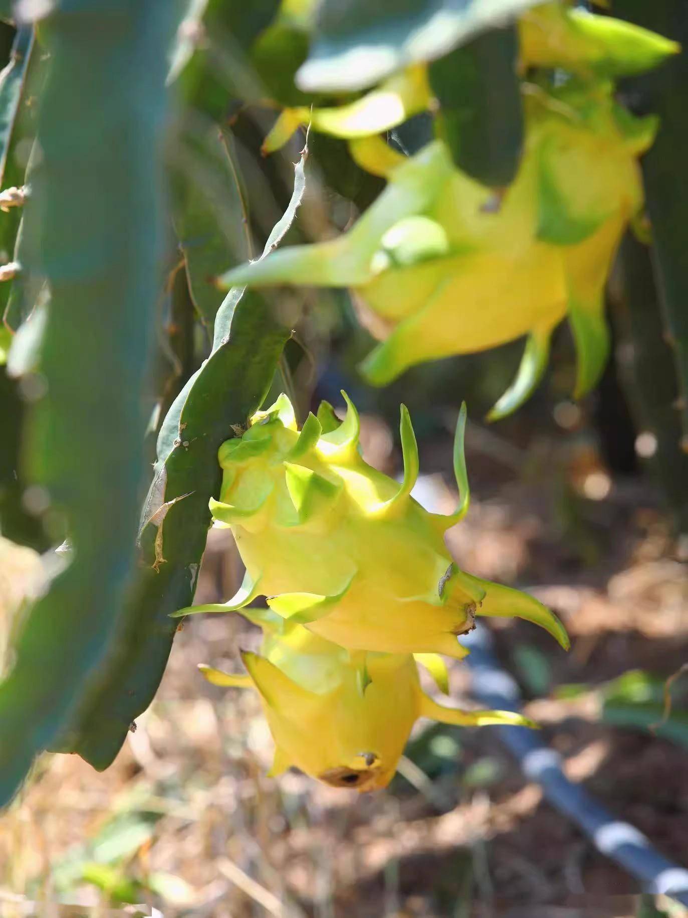
{"type": "MultiPolygon", "coordinates": [[[[517,711],[521,696],[516,681],[497,663],[492,636],[484,625],[462,637],[461,643],[471,648],[466,662],[471,669],[473,695],[486,707],[517,711]]],[[[550,749],[537,732],[525,727],[493,729],[499,731],[526,777],[538,782],[549,803],[576,823],[598,851],[638,879],[643,890],[664,893],[688,905],[688,869],[660,855],[635,826],[616,819],[566,778],[559,753],[550,749]]]]}

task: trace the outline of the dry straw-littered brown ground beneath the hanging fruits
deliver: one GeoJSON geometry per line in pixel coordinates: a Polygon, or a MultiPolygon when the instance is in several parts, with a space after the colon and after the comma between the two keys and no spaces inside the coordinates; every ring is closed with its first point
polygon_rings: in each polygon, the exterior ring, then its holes
{"type": "MultiPolygon", "coordinates": [[[[478,498],[452,533],[452,551],[477,574],[533,587],[571,633],[564,655],[527,624],[496,629],[503,662],[526,691],[533,667],[542,670],[545,697],[527,712],[571,778],[685,863],[684,749],[601,723],[594,690],[569,701],[553,691],[636,667],[668,677],[688,659],[688,575],[666,524],[645,487],[615,483],[605,501],[576,497],[575,457],[524,453],[526,471],[503,470],[495,488],[484,444],[469,445],[484,480],[474,476],[478,498]],[[560,504],[552,496],[562,475],[560,504]]],[[[444,449],[438,467],[448,467],[444,449]]],[[[427,483],[451,504],[449,487],[427,483]]],[[[226,598],[239,573],[227,534],[213,532],[199,601],[226,598]]],[[[600,918],[631,913],[609,897],[636,891],[633,881],[542,801],[490,729],[422,722],[401,774],[375,795],[297,773],[266,778],[272,742],[257,698],[216,689],[195,669],[238,667],[239,647],[256,643],[239,616],[188,621],[157,699],[113,767],[97,774],[76,756],[41,759],[0,824],[0,890],[95,905],[107,901],[98,884],[109,876],[111,887],[128,883],[166,916],[216,918],[487,915],[505,903],[535,918],[538,903],[580,903],[583,894],[600,918]]],[[[451,688],[456,703],[466,700],[461,665],[451,688]]],[[[2,901],[0,913],[9,914],[2,901]]]]}

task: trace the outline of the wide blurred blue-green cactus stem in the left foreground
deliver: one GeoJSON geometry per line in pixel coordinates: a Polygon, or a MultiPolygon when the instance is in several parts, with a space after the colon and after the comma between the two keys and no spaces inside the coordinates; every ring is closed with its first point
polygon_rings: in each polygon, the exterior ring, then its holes
{"type": "Polygon", "coordinates": [[[157,296],[172,23],[164,0],[74,10],[45,24],[51,64],[32,196],[41,246],[28,265],[51,288],[46,394],[31,412],[29,458],[73,555],[28,614],[0,686],[2,803],[117,648],[143,473],[139,403],[157,296]]]}

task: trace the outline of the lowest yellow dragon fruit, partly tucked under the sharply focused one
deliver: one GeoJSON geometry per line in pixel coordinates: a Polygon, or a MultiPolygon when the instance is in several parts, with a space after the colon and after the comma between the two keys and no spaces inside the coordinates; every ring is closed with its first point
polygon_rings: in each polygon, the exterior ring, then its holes
{"type": "MultiPolygon", "coordinates": [[[[334,787],[380,789],[394,776],[419,717],[460,726],[535,726],[511,711],[459,711],[439,705],[420,688],[410,654],[367,654],[369,681],[363,690],[360,670],[337,644],[302,625],[283,623],[270,611],[247,617],[264,632],[261,655],[242,654],[248,675],[199,668],[214,685],[259,691],[275,744],[272,775],[295,766],[334,787]]],[[[446,690],[441,658],[418,657],[446,690]]]]}

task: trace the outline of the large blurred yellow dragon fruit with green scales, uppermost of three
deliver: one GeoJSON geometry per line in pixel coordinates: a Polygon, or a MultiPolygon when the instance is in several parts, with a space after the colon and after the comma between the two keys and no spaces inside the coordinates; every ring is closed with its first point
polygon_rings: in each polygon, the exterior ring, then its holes
{"type": "MultiPolygon", "coordinates": [[[[440,141],[411,159],[384,154],[389,184],[349,232],[273,252],[223,283],[352,287],[385,330],[362,364],[374,385],[413,364],[527,335],[516,381],[494,417],[537,385],[551,331],[568,316],[583,395],[605,364],[605,280],[642,206],[637,156],[657,128],[655,118],[618,106],[612,90],[576,80],[550,92],[533,87],[524,155],[504,196],[455,169],[440,141]]],[[[355,149],[371,163],[382,147],[373,138],[355,149]]]]}

